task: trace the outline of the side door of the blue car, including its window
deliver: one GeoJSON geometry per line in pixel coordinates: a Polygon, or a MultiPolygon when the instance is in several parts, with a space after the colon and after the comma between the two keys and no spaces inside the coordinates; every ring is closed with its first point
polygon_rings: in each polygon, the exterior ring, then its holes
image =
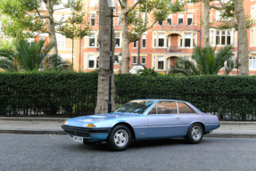
{"type": "Polygon", "coordinates": [[[153,136],[173,136],[178,134],[180,119],[177,102],[160,101],[147,114],[148,132],[153,136]]]}

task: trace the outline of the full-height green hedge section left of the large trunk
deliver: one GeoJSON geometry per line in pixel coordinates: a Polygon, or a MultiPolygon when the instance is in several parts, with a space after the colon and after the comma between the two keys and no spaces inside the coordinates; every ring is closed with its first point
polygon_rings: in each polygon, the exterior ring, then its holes
{"type": "Polygon", "coordinates": [[[94,113],[97,77],[97,72],[1,73],[0,114],[94,113]]]}

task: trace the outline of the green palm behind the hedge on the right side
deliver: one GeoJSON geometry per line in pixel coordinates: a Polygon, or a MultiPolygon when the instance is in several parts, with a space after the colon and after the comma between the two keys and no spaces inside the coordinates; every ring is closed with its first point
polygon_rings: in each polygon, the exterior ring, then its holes
{"type": "MultiPolygon", "coordinates": [[[[170,72],[173,74],[181,73],[185,76],[217,75],[219,70],[225,67],[225,61],[234,62],[232,58],[235,54],[232,53],[232,50],[233,47],[231,45],[219,49],[217,53],[215,53],[216,47],[208,46],[202,49],[194,47],[193,61],[179,58],[175,65],[171,66],[170,72]]],[[[231,70],[234,68],[235,65],[229,66],[231,70]]]]}

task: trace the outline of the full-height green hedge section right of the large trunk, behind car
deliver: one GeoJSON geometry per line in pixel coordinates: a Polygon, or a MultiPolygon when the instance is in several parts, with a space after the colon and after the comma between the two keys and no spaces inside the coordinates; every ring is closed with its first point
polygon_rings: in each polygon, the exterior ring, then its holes
{"type": "Polygon", "coordinates": [[[256,119],[256,77],[116,77],[122,102],[132,99],[175,99],[223,119],[256,119]]]}

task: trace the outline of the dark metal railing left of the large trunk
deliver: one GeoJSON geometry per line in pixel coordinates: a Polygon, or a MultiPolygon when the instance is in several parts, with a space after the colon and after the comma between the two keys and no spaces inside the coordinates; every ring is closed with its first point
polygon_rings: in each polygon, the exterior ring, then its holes
{"type": "Polygon", "coordinates": [[[0,116],[80,116],[94,114],[96,93],[89,91],[0,91],[0,116]]]}

